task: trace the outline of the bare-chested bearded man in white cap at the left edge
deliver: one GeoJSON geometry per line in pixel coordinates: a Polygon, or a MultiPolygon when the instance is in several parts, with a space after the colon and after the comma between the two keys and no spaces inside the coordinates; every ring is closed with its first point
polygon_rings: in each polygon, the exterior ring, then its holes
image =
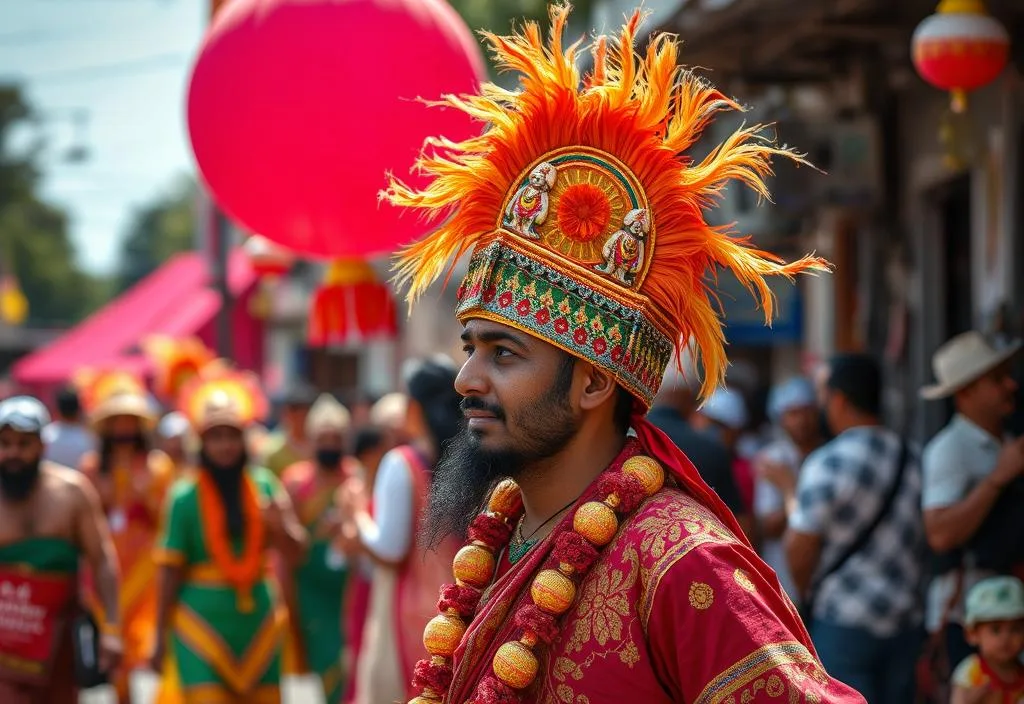
{"type": "Polygon", "coordinates": [[[121,656],[118,563],[95,490],[43,460],[49,414],[35,398],[0,403],[0,702],[77,704],[72,619],[80,559],[115,617],[103,624],[100,668],[121,656]]]}

